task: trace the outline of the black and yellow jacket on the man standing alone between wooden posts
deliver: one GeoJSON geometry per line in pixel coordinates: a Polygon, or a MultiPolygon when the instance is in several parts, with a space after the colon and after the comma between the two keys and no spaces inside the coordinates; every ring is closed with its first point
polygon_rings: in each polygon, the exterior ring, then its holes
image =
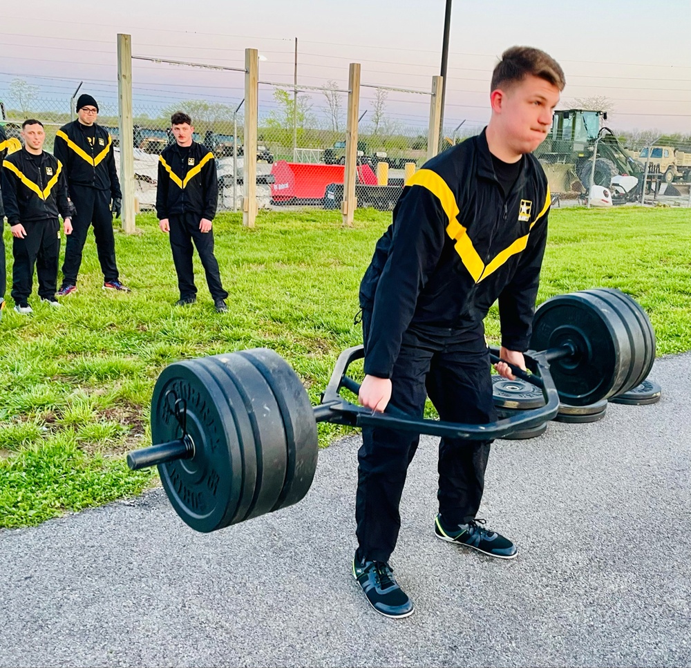
{"type": "Polygon", "coordinates": [[[200,218],[214,220],[217,206],[214,153],[197,142],[192,142],[189,152],[181,153],[177,143],[164,149],[158,159],[158,220],[182,213],[198,213],[200,218]]]}

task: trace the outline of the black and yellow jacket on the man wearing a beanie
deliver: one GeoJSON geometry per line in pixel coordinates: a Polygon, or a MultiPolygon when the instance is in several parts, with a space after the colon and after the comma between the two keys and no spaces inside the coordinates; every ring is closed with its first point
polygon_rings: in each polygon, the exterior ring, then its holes
{"type": "Polygon", "coordinates": [[[100,125],[96,128],[95,142],[91,143],[79,128],[79,121],[62,126],[55,133],[55,157],[64,164],[68,188],[74,185],[105,190],[113,200],[122,198],[120,181],[115,170],[113,140],[100,125]]]}

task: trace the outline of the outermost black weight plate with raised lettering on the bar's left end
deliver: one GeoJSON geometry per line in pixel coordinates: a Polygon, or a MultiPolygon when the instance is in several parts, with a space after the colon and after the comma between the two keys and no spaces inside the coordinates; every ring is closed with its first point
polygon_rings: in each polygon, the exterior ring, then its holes
{"type": "Polygon", "coordinates": [[[153,443],[179,439],[174,399],[187,405],[187,432],[194,443],[191,459],[158,466],[163,488],[176,513],[196,531],[226,526],[240,499],[243,465],[238,435],[225,392],[197,361],[169,365],[151,397],[153,443]],[[170,394],[169,394],[170,393],[170,394]]]}

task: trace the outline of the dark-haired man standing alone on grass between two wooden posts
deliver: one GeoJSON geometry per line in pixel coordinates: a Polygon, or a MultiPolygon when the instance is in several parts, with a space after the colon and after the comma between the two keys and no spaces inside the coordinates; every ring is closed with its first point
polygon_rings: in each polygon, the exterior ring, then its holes
{"type": "Polygon", "coordinates": [[[211,229],[218,205],[218,179],[214,154],[192,141],[191,118],[182,111],[171,117],[176,143],[164,149],[158,162],[156,213],[161,231],[170,234],[173,263],[178,273],[178,306],[197,300],[192,269],[192,242],[207,276],[209,292],[218,313],[228,310],[228,293],[220,283],[211,229]]]}

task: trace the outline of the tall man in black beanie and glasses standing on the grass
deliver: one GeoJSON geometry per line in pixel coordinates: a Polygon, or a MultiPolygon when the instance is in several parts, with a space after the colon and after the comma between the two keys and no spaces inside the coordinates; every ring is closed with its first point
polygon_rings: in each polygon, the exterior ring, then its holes
{"type": "Polygon", "coordinates": [[[103,271],[104,289],[130,292],[120,283],[115,265],[113,216],[120,216],[122,193],[115,171],[113,140],[96,124],[97,115],[96,100],[91,95],[79,95],[77,120],[62,126],[55,136],[55,157],[65,166],[69,195],[75,207],[74,231],[67,239],[59,296],[66,296],[77,289],[82,251],[91,225],[103,271]]]}

